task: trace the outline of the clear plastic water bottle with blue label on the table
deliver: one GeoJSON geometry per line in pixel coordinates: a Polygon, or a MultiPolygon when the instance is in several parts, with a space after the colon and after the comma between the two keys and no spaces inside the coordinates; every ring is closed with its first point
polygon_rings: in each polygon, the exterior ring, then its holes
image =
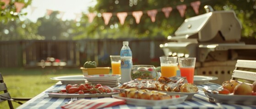
{"type": "Polygon", "coordinates": [[[132,53],[128,41],[123,41],[120,52],[121,58],[121,84],[131,81],[132,53]]]}

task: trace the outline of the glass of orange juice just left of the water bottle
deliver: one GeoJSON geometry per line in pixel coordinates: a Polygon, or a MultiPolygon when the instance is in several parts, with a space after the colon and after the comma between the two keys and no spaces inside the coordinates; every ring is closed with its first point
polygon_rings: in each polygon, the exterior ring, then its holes
{"type": "Polygon", "coordinates": [[[110,55],[112,74],[120,74],[121,58],[120,55],[110,55]]]}

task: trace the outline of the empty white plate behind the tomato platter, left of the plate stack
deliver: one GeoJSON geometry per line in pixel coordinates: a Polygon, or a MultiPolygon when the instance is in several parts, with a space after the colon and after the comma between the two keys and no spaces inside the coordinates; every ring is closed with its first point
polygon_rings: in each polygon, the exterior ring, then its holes
{"type": "Polygon", "coordinates": [[[71,75],[71,76],[58,76],[50,78],[52,80],[58,80],[62,84],[81,84],[85,83],[83,75],[71,75]]]}

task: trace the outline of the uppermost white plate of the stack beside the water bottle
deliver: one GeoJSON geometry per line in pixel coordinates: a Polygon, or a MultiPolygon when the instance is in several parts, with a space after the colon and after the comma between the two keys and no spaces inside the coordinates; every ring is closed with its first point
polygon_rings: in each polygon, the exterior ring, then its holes
{"type": "Polygon", "coordinates": [[[84,79],[90,80],[113,80],[119,79],[121,77],[120,74],[95,74],[95,75],[87,75],[84,76],[84,79]]]}

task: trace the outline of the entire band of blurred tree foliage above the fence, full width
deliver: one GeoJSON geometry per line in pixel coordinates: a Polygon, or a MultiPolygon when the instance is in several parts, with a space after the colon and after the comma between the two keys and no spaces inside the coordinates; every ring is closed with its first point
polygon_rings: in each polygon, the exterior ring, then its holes
{"type": "MultiPolygon", "coordinates": [[[[58,11],[50,16],[39,18],[33,23],[30,20],[20,20],[26,13],[18,13],[14,2],[25,3],[26,8],[32,0],[11,0],[5,9],[0,8],[0,40],[80,40],[105,38],[166,38],[173,35],[186,18],[196,16],[190,3],[196,0],[97,0],[97,5],[89,11],[97,13],[92,23],[88,22],[87,13],[83,13],[80,21],[62,21],[57,18],[58,11]],[[185,16],[181,17],[177,5],[187,5],[185,16]],[[173,10],[169,18],[161,11],[163,7],[171,6],[173,10]],[[147,10],[157,9],[156,21],[152,22],[147,10]],[[131,15],[133,11],[143,11],[139,24],[131,15]],[[103,12],[111,12],[109,24],[105,25],[103,12]],[[124,25],[116,14],[128,12],[124,25]]],[[[242,24],[242,37],[256,38],[256,2],[255,0],[200,0],[199,15],[206,13],[205,5],[211,5],[214,10],[234,10],[242,24]]],[[[4,5],[0,2],[0,5],[4,5]]],[[[72,9],[71,9],[72,10],[72,9]]]]}

